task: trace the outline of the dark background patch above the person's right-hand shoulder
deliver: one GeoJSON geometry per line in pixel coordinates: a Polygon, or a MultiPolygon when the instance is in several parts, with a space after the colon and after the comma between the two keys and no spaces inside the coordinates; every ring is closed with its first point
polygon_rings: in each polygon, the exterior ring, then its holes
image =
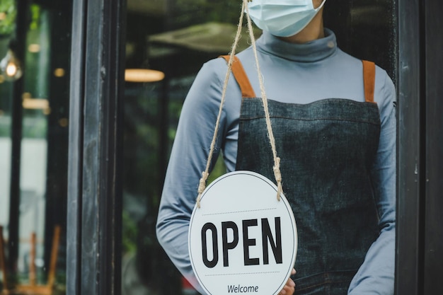
{"type": "Polygon", "coordinates": [[[375,62],[396,82],[396,0],[326,1],[323,15],[343,51],[375,62]]]}

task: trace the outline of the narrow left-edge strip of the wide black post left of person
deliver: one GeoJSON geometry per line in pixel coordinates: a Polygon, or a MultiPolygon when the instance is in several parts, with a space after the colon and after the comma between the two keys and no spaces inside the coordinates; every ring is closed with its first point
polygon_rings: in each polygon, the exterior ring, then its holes
{"type": "Polygon", "coordinates": [[[67,193],[67,294],[80,294],[81,175],[83,170],[84,47],[86,1],[73,1],[67,193]]]}

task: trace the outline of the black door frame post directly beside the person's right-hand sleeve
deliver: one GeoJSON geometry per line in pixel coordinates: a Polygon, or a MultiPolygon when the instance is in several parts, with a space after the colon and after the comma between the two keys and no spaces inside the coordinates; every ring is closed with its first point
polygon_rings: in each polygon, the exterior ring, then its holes
{"type": "Polygon", "coordinates": [[[420,3],[398,0],[396,294],[419,294],[422,178],[420,3]]]}

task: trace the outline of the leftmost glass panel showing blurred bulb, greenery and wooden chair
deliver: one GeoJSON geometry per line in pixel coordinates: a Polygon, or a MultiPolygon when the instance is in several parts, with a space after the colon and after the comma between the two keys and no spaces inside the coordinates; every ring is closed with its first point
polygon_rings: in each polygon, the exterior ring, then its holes
{"type": "Polygon", "coordinates": [[[11,294],[66,284],[71,1],[47,2],[0,4],[0,289],[11,294]]]}

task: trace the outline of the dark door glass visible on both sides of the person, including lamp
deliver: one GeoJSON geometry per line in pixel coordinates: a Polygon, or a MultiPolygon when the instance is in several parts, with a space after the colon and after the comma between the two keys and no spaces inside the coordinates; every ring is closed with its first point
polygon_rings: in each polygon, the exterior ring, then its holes
{"type": "MultiPolygon", "coordinates": [[[[326,1],[324,17],[345,52],[376,62],[391,78],[394,7],[388,0],[326,1]]],[[[126,72],[123,295],[197,294],[162,250],[155,224],[183,100],[202,64],[230,52],[240,10],[239,0],[127,0],[126,68],[146,76],[134,81],[126,72]]],[[[250,45],[246,30],[242,36],[237,52],[250,45]]],[[[224,172],[219,159],[210,177],[224,172]]]]}

